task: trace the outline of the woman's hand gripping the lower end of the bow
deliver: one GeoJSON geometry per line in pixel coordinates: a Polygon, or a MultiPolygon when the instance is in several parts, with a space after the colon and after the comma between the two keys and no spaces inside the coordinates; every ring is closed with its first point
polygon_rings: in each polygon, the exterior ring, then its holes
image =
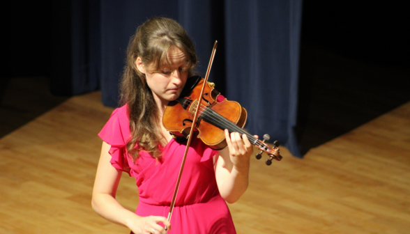
{"type": "Polygon", "coordinates": [[[167,234],[165,228],[158,224],[161,222],[167,226],[167,230],[171,230],[171,223],[167,218],[162,216],[147,216],[139,217],[138,219],[127,220],[126,226],[135,234],[147,234],[153,233],[155,229],[155,234],[167,234]]]}

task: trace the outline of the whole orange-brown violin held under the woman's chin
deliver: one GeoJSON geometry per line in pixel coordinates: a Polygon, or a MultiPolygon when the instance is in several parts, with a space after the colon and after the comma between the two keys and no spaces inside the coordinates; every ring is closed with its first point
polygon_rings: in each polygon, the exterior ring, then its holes
{"type": "Polygon", "coordinates": [[[198,132],[197,137],[214,150],[221,150],[227,146],[225,132],[238,132],[245,134],[250,143],[261,150],[256,155],[261,159],[262,153],[267,153],[266,165],[272,164],[272,159],[280,161],[282,156],[279,153],[279,142],[274,142],[274,147],[269,148],[265,143],[270,137],[264,135],[261,141],[249,132],[243,130],[248,112],[241,104],[227,99],[218,102],[218,95],[215,84],[207,82],[204,93],[200,96],[201,88],[204,86],[204,79],[199,76],[190,77],[185,84],[179,98],[168,103],[165,108],[162,123],[167,131],[175,137],[188,137],[190,128],[194,127],[198,132]],[[195,111],[199,108],[199,114],[194,121],[195,111]]]}

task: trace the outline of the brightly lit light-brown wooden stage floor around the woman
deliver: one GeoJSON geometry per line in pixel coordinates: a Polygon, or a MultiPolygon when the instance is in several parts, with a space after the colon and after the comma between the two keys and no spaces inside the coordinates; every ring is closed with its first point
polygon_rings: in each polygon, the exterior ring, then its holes
{"type": "MultiPolygon", "coordinates": [[[[0,139],[0,233],[129,233],[91,209],[101,141],[112,109],[77,96],[0,139]]],[[[238,233],[409,233],[410,102],[304,159],[265,166],[229,205],[238,233]]],[[[135,180],[118,199],[135,210],[135,180]]]]}

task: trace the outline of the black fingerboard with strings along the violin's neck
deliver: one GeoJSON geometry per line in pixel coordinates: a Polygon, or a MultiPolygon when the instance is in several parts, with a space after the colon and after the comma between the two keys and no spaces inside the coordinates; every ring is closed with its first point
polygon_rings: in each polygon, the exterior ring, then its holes
{"type": "Polygon", "coordinates": [[[258,139],[256,137],[252,136],[252,134],[250,134],[249,132],[246,132],[241,127],[238,127],[238,125],[227,120],[224,116],[221,116],[220,114],[218,114],[216,111],[214,111],[213,109],[209,107],[204,109],[204,111],[202,112],[201,118],[204,121],[211,123],[211,125],[214,125],[215,127],[219,127],[221,130],[227,129],[229,133],[238,132],[239,134],[241,134],[241,136],[245,134],[246,137],[248,137],[250,143],[252,143],[254,146],[257,144],[258,139]]]}

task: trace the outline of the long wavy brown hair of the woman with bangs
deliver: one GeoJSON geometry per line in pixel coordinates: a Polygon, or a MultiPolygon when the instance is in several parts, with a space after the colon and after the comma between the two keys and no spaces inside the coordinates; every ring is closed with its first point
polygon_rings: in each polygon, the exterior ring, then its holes
{"type": "Polygon", "coordinates": [[[159,71],[161,63],[169,63],[167,54],[171,47],[178,47],[188,57],[188,77],[192,76],[197,63],[195,47],[178,22],[163,17],[151,18],[137,28],[128,44],[120,91],[121,104],[128,104],[131,138],[126,147],[133,159],[139,157],[140,150],[152,157],[161,157],[158,146],[162,139],[158,107],[145,75],[139,72],[135,61],[139,57],[145,68],[159,71]]]}

